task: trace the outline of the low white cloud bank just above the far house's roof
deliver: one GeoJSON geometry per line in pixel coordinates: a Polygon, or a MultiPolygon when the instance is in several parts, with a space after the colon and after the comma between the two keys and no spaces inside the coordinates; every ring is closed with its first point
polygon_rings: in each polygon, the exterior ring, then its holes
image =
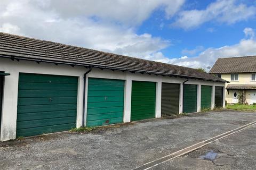
{"type": "Polygon", "coordinates": [[[215,61],[220,57],[234,57],[234,56],[250,56],[256,54],[256,39],[252,38],[254,31],[251,28],[244,29],[247,39],[242,39],[239,43],[223,46],[220,48],[207,48],[201,52],[197,57],[180,57],[180,58],[167,58],[163,54],[157,54],[157,56],[151,55],[150,60],[161,61],[169,64],[176,64],[194,68],[207,68],[213,66],[215,61]],[[250,33],[248,33],[250,32],[250,33]]]}

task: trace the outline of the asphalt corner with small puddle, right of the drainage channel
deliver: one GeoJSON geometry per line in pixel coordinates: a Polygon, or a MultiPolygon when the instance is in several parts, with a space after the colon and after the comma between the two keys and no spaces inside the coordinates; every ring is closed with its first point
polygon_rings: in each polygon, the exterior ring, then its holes
{"type": "Polygon", "coordinates": [[[255,169],[256,125],[153,169],[255,169]],[[210,154],[209,154],[210,153],[210,154]]]}

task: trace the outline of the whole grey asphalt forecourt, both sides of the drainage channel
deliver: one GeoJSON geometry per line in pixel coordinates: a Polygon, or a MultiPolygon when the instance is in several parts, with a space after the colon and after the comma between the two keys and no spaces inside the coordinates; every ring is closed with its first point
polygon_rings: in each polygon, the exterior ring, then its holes
{"type": "MultiPolygon", "coordinates": [[[[134,169],[253,121],[255,113],[214,111],[0,142],[0,169],[134,169]]],[[[251,126],[154,169],[254,169],[255,132],[251,126]],[[204,160],[211,151],[217,157],[204,160]]]]}

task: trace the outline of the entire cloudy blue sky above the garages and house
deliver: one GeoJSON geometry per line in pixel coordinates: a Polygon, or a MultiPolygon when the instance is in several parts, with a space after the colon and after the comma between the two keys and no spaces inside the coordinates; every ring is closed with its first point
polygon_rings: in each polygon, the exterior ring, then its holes
{"type": "Polygon", "coordinates": [[[256,55],[256,0],[1,0],[0,31],[209,71],[256,55]]]}

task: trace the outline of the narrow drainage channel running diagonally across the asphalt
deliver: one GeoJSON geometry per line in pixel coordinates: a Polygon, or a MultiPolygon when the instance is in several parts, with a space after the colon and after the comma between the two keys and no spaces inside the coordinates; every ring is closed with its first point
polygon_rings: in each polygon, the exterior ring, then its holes
{"type": "Polygon", "coordinates": [[[228,137],[228,136],[231,135],[231,134],[234,134],[234,133],[236,133],[236,132],[239,132],[239,131],[242,131],[242,130],[244,130],[244,129],[246,129],[246,128],[249,128],[250,126],[252,126],[252,125],[254,125],[254,124],[256,124],[256,121],[251,122],[251,123],[246,124],[246,125],[243,125],[243,126],[241,126],[241,127],[239,127],[239,128],[233,129],[233,130],[231,130],[231,131],[228,131],[228,132],[219,134],[219,135],[217,135],[217,136],[215,136],[215,137],[213,137],[213,138],[210,138],[210,139],[207,139],[207,140],[205,140],[205,141],[196,143],[195,145],[189,146],[189,147],[187,147],[187,148],[178,150],[178,151],[176,151],[176,152],[173,152],[173,153],[170,154],[170,155],[166,155],[166,156],[164,156],[164,157],[162,157],[162,158],[158,158],[158,159],[153,160],[153,161],[151,161],[151,162],[149,162],[149,163],[143,164],[143,165],[141,165],[141,166],[135,168],[134,170],[146,170],[146,169],[150,169],[150,168],[155,167],[155,166],[157,166],[157,165],[159,165],[159,164],[165,163],[165,162],[167,162],[167,161],[169,161],[169,160],[171,160],[171,159],[177,158],[177,157],[182,156],[182,155],[186,155],[186,154],[188,154],[188,153],[191,152],[191,151],[194,151],[194,150],[197,150],[197,149],[199,149],[199,148],[202,148],[202,147],[204,147],[205,145],[207,145],[207,144],[209,144],[209,143],[212,143],[213,141],[220,140],[220,139],[222,139],[222,138],[228,137]]]}

